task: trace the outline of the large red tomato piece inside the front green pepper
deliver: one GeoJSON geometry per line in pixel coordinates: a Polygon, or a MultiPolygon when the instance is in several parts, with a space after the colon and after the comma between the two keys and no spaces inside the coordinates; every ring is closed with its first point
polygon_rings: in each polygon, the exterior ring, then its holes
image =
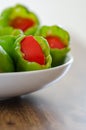
{"type": "Polygon", "coordinates": [[[26,36],[21,41],[21,51],[24,53],[25,60],[37,62],[40,65],[45,64],[45,56],[42,48],[33,36],[26,36]]]}

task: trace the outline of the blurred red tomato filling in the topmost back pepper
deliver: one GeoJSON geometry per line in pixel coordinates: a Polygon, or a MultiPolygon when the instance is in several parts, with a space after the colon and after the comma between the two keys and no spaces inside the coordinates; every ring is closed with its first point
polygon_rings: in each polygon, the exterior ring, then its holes
{"type": "Polygon", "coordinates": [[[35,23],[32,19],[29,18],[16,17],[15,19],[11,20],[9,24],[13,28],[26,31],[27,28],[32,27],[35,23]]]}

